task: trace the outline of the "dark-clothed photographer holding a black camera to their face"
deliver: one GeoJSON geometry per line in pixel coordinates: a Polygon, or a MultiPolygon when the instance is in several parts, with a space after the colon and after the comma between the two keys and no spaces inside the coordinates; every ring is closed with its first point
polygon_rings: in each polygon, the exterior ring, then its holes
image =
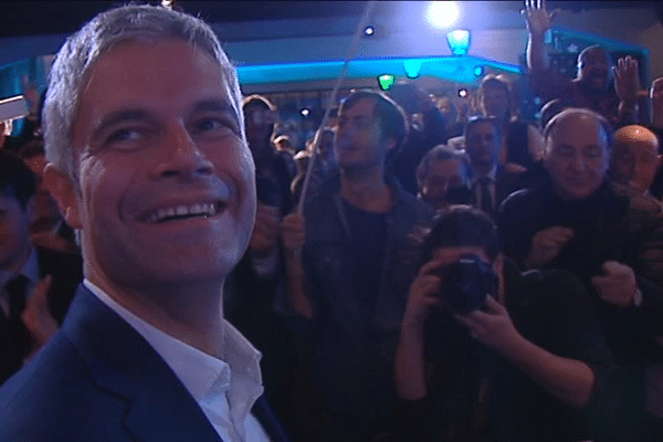
{"type": "Polygon", "coordinates": [[[614,371],[582,284],[522,274],[470,207],[438,215],[422,259],[397,349],[399,440],[593,439],[618,397],[603,388],[614,371]]]}

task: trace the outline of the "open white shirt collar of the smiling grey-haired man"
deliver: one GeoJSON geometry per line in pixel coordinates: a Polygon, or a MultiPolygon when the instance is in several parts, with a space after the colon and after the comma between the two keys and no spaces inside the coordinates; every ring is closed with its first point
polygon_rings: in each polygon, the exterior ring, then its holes
{"type": "Polygon", "coordinates": [[[150,344],[196,401],[227,391],[234,417],[248,413],[262,394],[261,352],[229,322],[223,322],[224,361],[148,324],[88,280],[83,284],[150,344]]]}

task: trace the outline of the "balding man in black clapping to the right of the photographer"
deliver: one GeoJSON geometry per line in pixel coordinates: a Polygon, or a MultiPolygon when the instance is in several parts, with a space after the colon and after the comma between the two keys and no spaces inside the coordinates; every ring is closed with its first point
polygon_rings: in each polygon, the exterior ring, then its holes
{"type": "Polygon", "coordinates": [[[544,135],[550,179],[502,204],[504,252],[525,269],[569,270],[586,284],[628,372],[622,422],[634,432],[620,440],[656,440],[638,439],[643,424],[635,422],[644,415],[643,369],[663,360],[661,204],[607,179],[612,129],[600,115],[566,109],[544,135]]]}

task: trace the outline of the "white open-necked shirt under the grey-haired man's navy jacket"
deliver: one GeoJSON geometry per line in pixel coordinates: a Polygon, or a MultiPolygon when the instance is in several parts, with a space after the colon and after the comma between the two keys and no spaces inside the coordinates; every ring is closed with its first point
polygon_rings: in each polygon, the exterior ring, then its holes
{"type": "Polygon", "coordinates": [[[223,322],[223,361],[146,323],[90,281],[84,280],[83,284],[149,343],[196,399],[224,442],[270,441],[251,414],[253,403],[264,390],[261,354],[229,322],[223,322]]]}

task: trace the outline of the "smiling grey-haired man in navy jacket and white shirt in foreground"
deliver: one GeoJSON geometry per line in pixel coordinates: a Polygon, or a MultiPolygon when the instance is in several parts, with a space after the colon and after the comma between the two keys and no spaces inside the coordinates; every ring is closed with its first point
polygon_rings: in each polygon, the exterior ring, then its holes
{"type": "Polygon", "coordinates": [[[222,311],[255,215],[240,103],[213,31],[169,9],[109,10],[59,52],[44,180],[85,280],[0,390],[0,440],[282,440],[222,311]]]}

